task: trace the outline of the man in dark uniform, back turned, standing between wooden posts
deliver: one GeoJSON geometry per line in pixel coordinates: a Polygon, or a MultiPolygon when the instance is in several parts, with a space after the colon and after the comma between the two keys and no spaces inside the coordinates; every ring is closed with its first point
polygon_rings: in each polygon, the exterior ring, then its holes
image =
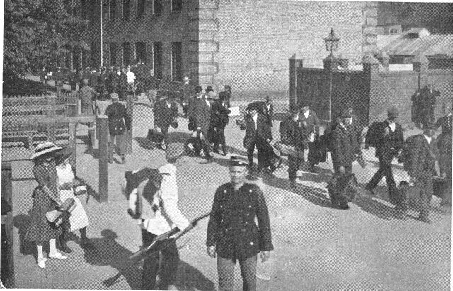
{"type": "Polygon", "coordinates": [[[110,140],[108,142],[108,162],[113,163],[113,150],[115,149],[115,138],[117,154],[121,156],[121,164],[125,164],[125,152],[124,152],[124,134],[125,130],[130,130],[130,120],[127,115],[125,105],[118,102],[118,94],[110,94],[112,104],[107,106],[105,115],[108,117],[108,132],[110,134],[110,140]]]}

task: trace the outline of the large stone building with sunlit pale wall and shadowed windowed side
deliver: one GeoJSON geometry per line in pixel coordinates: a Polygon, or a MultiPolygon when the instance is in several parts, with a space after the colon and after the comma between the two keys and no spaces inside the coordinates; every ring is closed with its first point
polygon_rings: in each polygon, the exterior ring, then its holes
{"type": "MultiPolygon", "coordinates": [[[[98,66],[99,1],[73,1],[74,13],[92,18],[86,32],[91,50],[74,55],[84,67],[98,66]]],[[[189,76],[202,86],[229,84],[239,95],[286,94],[289,57],[296,53],[304,65],[322,66],[328,55],[323,38],[331,28],[340,38],[336,55],[350,63],[377,52],[377,7],[345,1],[103,0],[103,64],[141,61],[164,81],[189,76]]]]}

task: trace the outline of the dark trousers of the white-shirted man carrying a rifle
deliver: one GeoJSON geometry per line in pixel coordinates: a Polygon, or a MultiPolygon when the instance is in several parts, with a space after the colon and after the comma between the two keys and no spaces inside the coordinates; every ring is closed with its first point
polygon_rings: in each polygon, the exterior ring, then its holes
{"type": "MultiPolygon", "coordinates": [[[[155,234],[147,232],[142,229],[142,241],[144,246],[149,246],[153,239],[156,237],[155,234]]],[[[179,252],[176,247],[176,242],[173,241],[170,246],[166,247],[159,253],[154,253],[145,258],[143,263],[142,273],[142,290],[167,290],[168,285],[171,285],[176,278],[178,272],[179,252]],[[159,259],[162,255],[161,272],[159,275],[162,276],[159,287],[156,285],[156,277],[159,271],[159,259]]]]}

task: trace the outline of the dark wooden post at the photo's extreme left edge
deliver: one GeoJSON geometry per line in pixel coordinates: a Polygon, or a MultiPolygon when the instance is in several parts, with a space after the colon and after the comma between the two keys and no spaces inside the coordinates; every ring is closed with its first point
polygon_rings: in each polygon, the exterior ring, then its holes
{"type": "MultiPolygon", "coordinates": [[[[6,241],[8,243],[8,278],[4,282],[6,288],[14,287],[14,251],[13,251],[13,183],[11,163],[1,163],[1,198],[11,205],[11,211],[6,218],[6,241]]],[[[3,260],[3,258],[2,258],[3,260]]]]}

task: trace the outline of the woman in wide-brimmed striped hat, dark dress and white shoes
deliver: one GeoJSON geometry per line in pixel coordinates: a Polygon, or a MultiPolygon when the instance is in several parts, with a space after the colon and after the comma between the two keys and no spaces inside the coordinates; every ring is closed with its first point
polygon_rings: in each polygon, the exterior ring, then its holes
{"type": "Polygon", "coordinates": [[[56,246],[56,239],[62,233],[62,228],[53,227],[45,217],[46,212],[62,206],[55,170],[55,154],[61,150],[61,147],[57,147],[52,142],[44,142],[36,147],[35,154],[30,158],[35,163],[32,171],[38,186],[33,191],[33,206],[26,239],[36,243],[37,262],[40,268],[45,268],[46,259],[42,253],[42,244],[45,241],[49,241],[49,258],[67,259],[57,251],[56,246]]]}

